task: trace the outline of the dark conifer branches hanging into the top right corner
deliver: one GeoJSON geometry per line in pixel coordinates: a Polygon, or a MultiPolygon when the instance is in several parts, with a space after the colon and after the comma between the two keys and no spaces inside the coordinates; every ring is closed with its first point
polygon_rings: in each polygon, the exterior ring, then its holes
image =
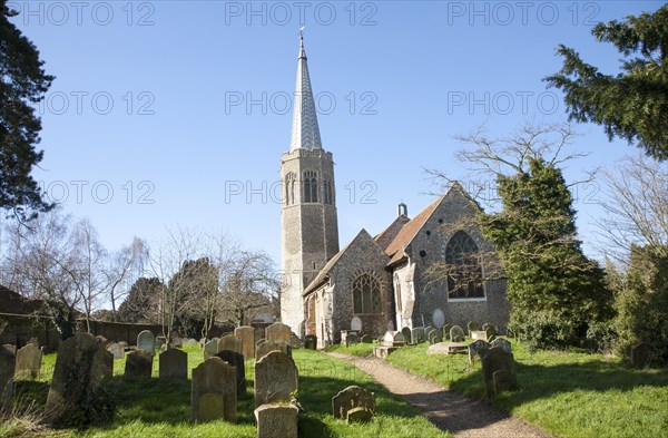
{"type": "Polygon", "coordinates": [[[608,138],[623,138],[647,155],[668,159],[668,6],[598,23],[592,33],[623,55],[622,72],[605,75],[560,45],[563,67],[546,80],[566,93],[571,120],[602,125],[608,138]]]}

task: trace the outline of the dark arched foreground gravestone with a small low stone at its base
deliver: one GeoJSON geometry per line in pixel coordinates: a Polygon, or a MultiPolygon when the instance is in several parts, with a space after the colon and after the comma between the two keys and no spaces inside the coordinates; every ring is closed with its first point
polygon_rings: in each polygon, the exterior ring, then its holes
{"type": "Polygon", "coordinates": [[[220,358],[209,358],[193,370],[190,421],[223,418],[236,422],[236,371],[220,358]]]}

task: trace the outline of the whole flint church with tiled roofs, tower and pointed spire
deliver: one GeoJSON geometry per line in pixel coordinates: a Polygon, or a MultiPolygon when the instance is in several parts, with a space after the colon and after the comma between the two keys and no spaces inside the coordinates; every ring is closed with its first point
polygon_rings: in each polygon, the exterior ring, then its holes
{"type": "Polygon", "coordinates": [[[377,338],[404,327],[465,327],[472,320],[504,331],[505,281],[491,274],[499,270],[497,254],[473,221],[480,207],[461,185],[412,218],[400,204],[385,230],[372,235],[362,228],[340,249],[334,160],[321,140],[303,36],[281,181],[281,319],[301,338],[314,334],[322,348],[340,342],[346,330],[377,338]],[[458,263],[477,281],[456,275],[458,263]],[[454,269],[434,281],[434,264],[454,269]]]}

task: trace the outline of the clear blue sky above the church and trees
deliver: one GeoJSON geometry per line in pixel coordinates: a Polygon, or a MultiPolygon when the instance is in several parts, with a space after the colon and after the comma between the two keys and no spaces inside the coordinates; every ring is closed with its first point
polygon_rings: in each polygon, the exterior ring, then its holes
{"type": "MultiPolygon", "coordinates": [[[[438,187],[423,167],[469,177],[453,137],[485,124],[566,119],[558,43],[616,72],[598,21],[651,1],[9,2],[57,77],[42,104],[35,176],[67,212],[88,216],[110,250],[166,226],[220,230],[279,262],[281,154],[289,147],[298,29],[305,26],[323,146],[334,154],[341,246],[374,234],[396,204],[416,214],[438,187]]],[[[566,175],[635,148],[579,125],[566,175]]],[[[576,208],[593,253],[599,182],[576,208]]]]}

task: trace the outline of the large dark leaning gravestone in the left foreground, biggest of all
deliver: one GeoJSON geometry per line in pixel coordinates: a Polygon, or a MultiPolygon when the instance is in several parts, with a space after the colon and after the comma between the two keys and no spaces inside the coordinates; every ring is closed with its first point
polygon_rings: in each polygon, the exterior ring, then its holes
{"type": "Polygon", "coordinates": [[[60,342],[45,412],[57,426],[82,425],[100,420],[111,408],[100,388],[109,376],[109,359],[99,339],[77,333],[60,342]]]}

